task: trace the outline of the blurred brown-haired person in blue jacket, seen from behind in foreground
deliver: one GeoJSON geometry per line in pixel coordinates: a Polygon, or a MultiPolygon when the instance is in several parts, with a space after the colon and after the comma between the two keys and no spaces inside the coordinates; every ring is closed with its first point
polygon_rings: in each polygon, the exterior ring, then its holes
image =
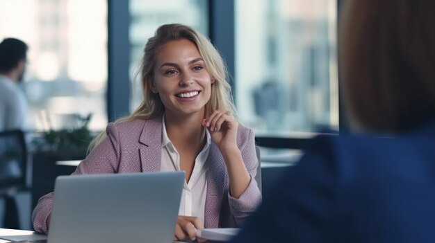
{"type": "Polygon", "coordinates": [[[435,242],[435,1],[347,1],[345,106],[231,242],[435,242]]]}

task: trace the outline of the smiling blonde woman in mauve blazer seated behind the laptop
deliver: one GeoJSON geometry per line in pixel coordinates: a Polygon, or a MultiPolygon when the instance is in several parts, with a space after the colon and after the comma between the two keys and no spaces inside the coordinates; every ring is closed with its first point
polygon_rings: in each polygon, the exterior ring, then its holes
{"type": "MultiPolygon", "coordinates": [[[[110,123],[73,174],[186,171],[174,238],[194,240],[195,228],[240,226],[261,202],[254,179],[254,132],[234,118],[222,57],[188,26],[156,30],[142,57],[144,100],[110,123]]],[[[53,193],[33,212],[47,232],[53,193]]]]}

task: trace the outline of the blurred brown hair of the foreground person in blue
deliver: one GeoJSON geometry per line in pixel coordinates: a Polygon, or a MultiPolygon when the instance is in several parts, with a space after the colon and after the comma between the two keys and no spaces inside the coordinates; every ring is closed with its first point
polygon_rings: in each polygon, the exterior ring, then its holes
{"type": "Polygon", "coordinates": [[[347,0],[340,73],[350,114],[376,132],[435,118],[435,1],[347,0]]]}

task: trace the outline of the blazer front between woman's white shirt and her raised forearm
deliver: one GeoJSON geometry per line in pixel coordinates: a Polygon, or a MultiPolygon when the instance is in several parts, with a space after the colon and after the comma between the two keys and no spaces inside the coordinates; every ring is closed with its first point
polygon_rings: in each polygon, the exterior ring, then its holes
{"type": "Polygon", "coordinates": [[[204,227],[218,228],[222,199],[224,196],[224,185],[227,184],[227,167],[219,149],[214,143],[211,144],[207,157],[207,195],[204,208],[204,227]]]}

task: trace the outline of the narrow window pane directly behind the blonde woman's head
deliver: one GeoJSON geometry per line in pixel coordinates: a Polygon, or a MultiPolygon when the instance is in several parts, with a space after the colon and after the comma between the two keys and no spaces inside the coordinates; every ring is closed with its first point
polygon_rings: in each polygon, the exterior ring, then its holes
{"type": "Polygon", "coordinates": [[[130,0],[131,80],[134,80],[131,110],[142,100],[140,78],[135,77],[143,48],[162,24],[186,24],[208,35],[208,1],[204,0],[130,0]]]}

